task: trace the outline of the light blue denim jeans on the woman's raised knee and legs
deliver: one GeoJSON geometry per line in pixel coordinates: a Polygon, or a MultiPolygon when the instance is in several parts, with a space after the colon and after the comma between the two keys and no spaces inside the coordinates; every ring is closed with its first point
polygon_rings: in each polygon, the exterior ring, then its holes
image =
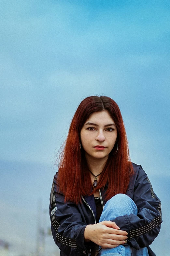
{"type": "MultiPolygon", "coordinates": [[[[99,222],[104,220],[113,220],[118,216],[125,214],[137,215],[137,206],[134,201],[127,195],[117,194],[107,201],[99,222]]],[[[101,248],[101,247],[100,247],[101,248]]],[[[136,250],[129,245],[119,245],[116,248],[101,249],[98,256],[149,256],[147,247],[136,250]]]]}

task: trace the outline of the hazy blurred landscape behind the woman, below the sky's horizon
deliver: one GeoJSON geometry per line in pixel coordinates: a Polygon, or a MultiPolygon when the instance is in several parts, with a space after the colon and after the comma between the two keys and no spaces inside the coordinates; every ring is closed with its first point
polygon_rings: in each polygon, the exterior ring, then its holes
{"type": "MultiPolygon", "coordinates": [[[[0,161],[0,255],[58,256],[50,231],[49,197],[54,176],[51,166],[0,161]]],[[[170,177],[149,176],[162,201],[162,228],[151,248],[157,256],[169,256],[170,177]]]]}

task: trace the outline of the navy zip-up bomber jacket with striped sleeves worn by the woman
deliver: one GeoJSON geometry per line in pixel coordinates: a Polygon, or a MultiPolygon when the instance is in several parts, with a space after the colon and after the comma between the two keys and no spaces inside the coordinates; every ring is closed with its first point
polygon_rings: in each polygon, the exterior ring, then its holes
{"type": "MultiPolygon", "coordinates": [[[[148,247],[149,256],[156,256],[149,245],[161,228],[161,202],[153,192],[141,165],[132,164],[135,174],[130,179],[126,195],[135,202],[138,214],[120,216],[112,221],[121,230],[127,231],[127,244],[135,249],[148,247]]],[[[59,193],[57,176],[58,173],[54,176],[50,194],[50,220],[54,241],[61,250],[60,256],[89,256],[94,243],[84,242],[84,230],[87,225],[96,222],[94,196],[82,196],[82,203],[78,205],[64,202],[64,195],[59,193]]],[[[107,189],[107,184],[104,190],[99,189],[102,207],[106,204],[104,194],[107,189]]]]}

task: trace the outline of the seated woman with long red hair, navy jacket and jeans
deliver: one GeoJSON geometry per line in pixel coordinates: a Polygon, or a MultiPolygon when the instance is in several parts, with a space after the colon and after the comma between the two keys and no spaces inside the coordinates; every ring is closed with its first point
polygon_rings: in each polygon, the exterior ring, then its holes
{"type": "Polygon", "coordinates": [[[60,255],[154,256],[161,202],[140,165],[129,161],[116,102],[85,98],[73,116],[50,194],[60,255]]]}

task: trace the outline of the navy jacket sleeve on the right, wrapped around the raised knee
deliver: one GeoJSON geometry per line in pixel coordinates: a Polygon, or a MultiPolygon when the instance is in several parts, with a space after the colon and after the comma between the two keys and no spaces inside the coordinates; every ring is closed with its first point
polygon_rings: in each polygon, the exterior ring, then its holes
{"type": "Polygon", "coordinates": [[[135,181],[133,201],[137,206],[137,215],[124,215],[112,221],[121,230],[128,232],[127,243],[135,249],[140,249],[153,242],[162,223],[161,202],[153,192],[152,185],[141,166],[135,181]]]}

